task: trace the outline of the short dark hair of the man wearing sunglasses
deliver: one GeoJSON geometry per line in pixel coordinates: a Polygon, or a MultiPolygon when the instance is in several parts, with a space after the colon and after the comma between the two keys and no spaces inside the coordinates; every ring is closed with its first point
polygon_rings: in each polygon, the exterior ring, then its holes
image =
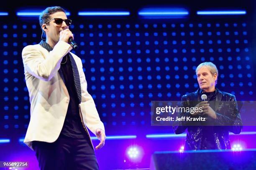
{"type": "MultiPolygon", "coordinates": [[[[41,29],[42,29],[42,25],[50,20],[50,15],[54,14],[56,12],[59,12],[59,11],[62,11],[65,13],[65,10],[62,7],[57,7],[57,6],[47,7],[39,16],[39,23],[40,23],[41,29]]],[[[43,30],[43,32],[44,32],[44,30],[43,30]]],[[[45,32],[44,32],[44,35],[45,35],[45,32]]]]}

